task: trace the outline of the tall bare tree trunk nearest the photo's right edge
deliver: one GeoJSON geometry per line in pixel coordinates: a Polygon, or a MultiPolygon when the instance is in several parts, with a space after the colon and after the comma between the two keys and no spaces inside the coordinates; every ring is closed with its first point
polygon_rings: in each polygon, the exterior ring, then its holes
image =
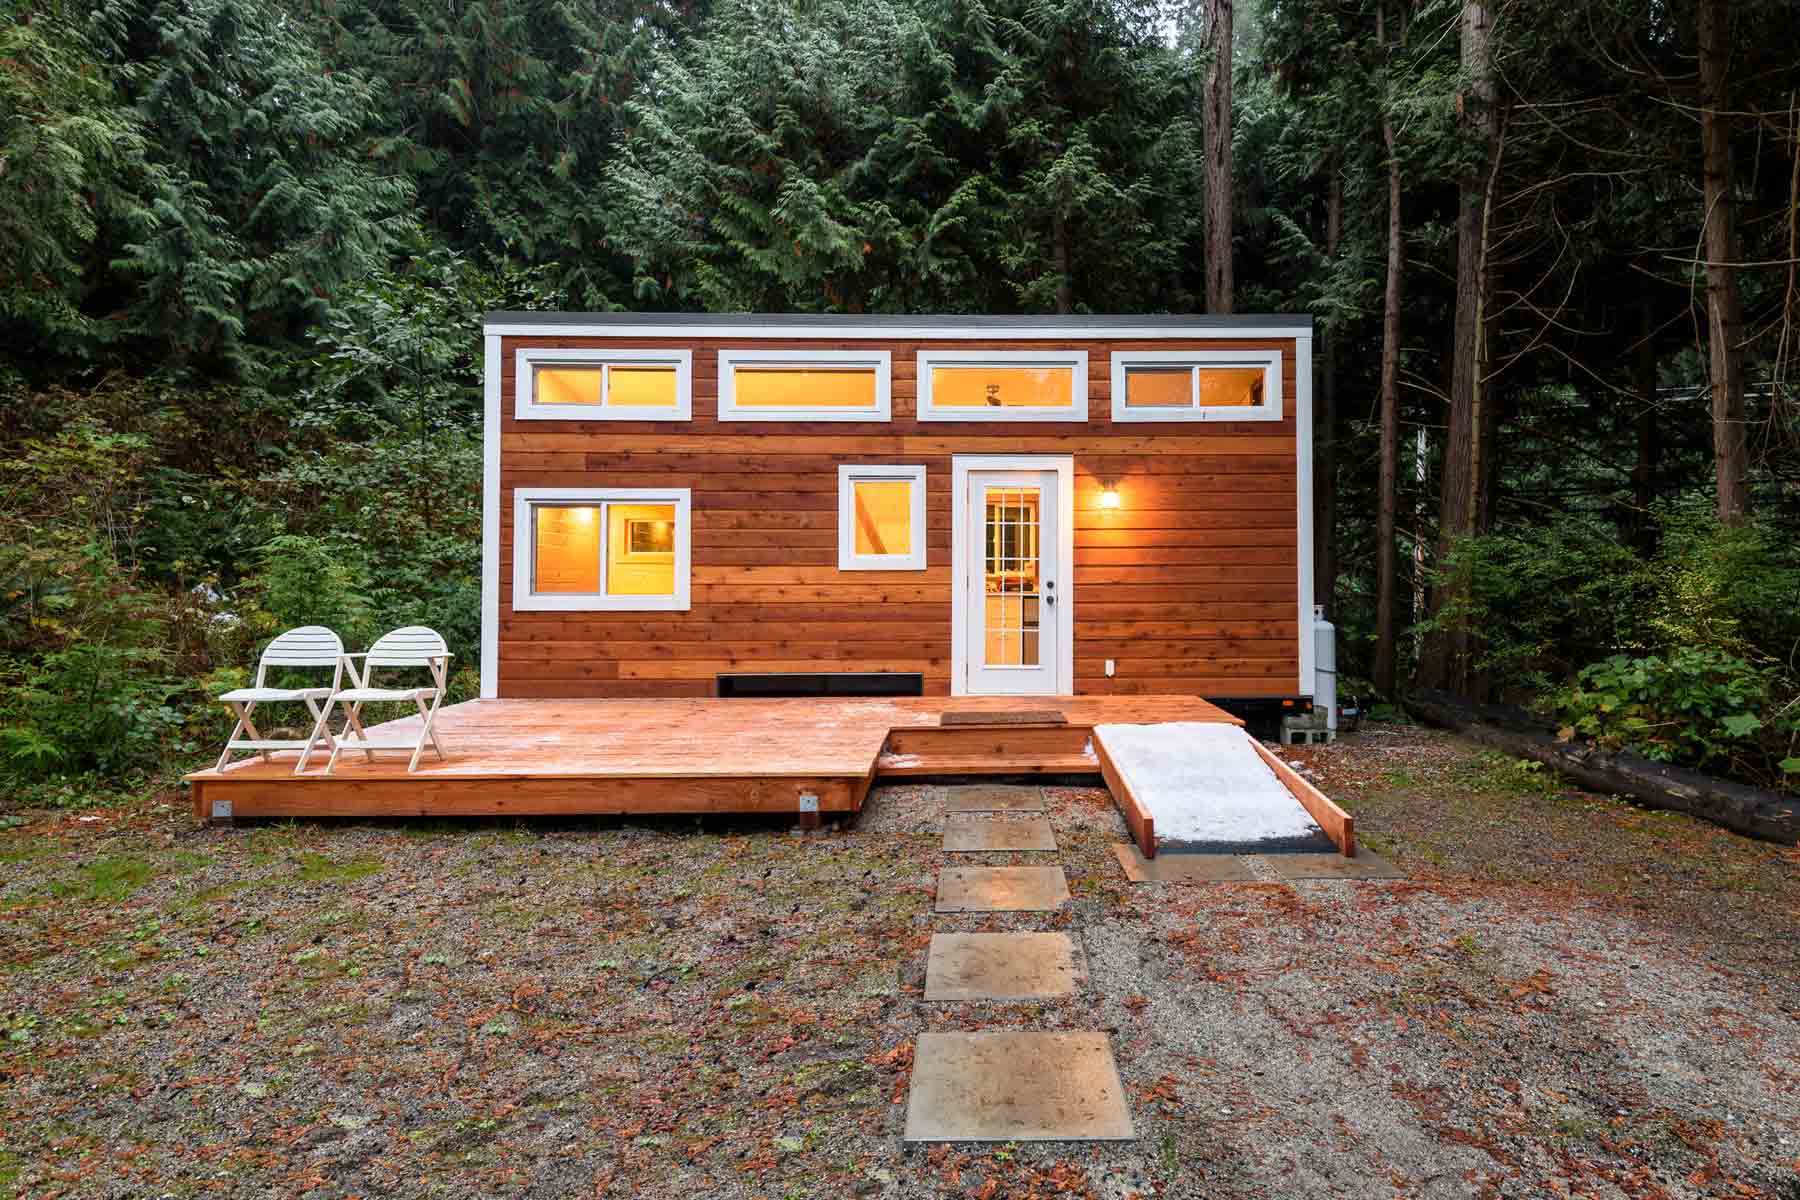
{"type": "Polygon", "coordinates": [[[1732,210],[1730,0],[1699,0],[1699,140],[1706,225],[1706,358],[1712,383],[1712,462],[1719,520],[1744,520],[1748,439],[1744,432],[1742,309],[1737,300],[1737,236],[1732,210]]]}

